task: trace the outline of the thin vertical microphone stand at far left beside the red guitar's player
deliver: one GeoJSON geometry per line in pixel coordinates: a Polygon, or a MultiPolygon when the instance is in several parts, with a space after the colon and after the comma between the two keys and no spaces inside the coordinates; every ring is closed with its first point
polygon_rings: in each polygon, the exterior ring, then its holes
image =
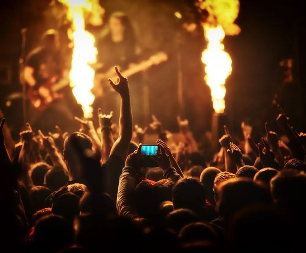
{"type": "Polygon", "coordinates": [[[24,125],[28,121],[27,119],[27,97],[26,97],[26,83],[24,80],[24,67],[25,67],[25,43],[27,28],[21,29],[21,56],[19,58],[19,83],[22,85],[22,116],[24,125]]]}

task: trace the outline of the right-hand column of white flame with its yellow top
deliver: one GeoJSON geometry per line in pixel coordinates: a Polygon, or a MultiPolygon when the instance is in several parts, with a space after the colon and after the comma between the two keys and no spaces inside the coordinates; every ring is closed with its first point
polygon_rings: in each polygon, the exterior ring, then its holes
{"type": "Polygon", "coordinates": [[[200,10],[206,10],[208,17],[203,22],[207,48],[202,52],[205,64],[206,84],[211,89],[211,99],[216,113],[224,113],[226,78],[232,73],[232,59],[224,51],[222,41],[225,35],[237,35],[240,28],[233,22],[238,17],[239,0],[199,0],[200,10]]]}

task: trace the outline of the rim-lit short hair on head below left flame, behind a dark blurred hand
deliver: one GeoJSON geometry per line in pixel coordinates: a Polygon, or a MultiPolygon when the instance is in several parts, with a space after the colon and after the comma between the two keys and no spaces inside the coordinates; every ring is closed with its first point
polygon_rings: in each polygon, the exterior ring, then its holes
{"type": "Polygon", "coordinates": [[[83,151],[92,149],[92,140],[90,137],[81,132],[73,132],[65,137],[64,140],[64,158],[67,162],[73,162],[74,158],[78,156],[77,150],[74,147],[74,141],[76,141],[83,151]]]}

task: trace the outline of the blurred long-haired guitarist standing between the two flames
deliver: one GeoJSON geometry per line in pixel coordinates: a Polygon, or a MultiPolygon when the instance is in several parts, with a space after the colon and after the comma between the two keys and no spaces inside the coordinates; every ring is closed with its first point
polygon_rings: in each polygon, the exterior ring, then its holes
{"type": "MultiPolygon", "coordinates": [[[[117,65],[121,72],[132,67],[138,62],[138,54],[140,51],[136,45],[136,37],[129,17],[123,12],[114,12],[111,14],[108,25],[101,32],[102,38],[98,41],[98,61],[103,64],[103,68],[99,72],[105,73],[109,69],[113,70],[117,65]]],[[[115,74],[115,73],[114,73],[115,74]]],[[[132,111],[135,122],[140,124],[143,117],[143,86],[141,85],[141,75],[129,76],[130,93],[132,101],[132,111]]],[[[109,88],[108,83],[105,88],[109,88]]],[[[104,87],[103,87],[104,88],[104,87]]],[[[104,90],[106,96],[101,99],[103,110],[119,111],[120,100],[115,92],[104,90]]],[[[99,102],[96,98],[95,102],[99,102]]],[[[116,115],[116,114],[115,114],[116,115]]],[[[117,120],[118,118],[116,118],[117,120]]]]}

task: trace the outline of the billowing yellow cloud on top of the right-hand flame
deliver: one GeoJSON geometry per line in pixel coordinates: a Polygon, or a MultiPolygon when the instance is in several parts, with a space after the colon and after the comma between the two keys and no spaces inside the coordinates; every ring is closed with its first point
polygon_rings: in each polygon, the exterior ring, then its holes
{"type": "Polygon", "coordinates": [[[239,14],[239,0],[198,0],[196,6],[205,13],[203,22],[211,27],[221,25],[225,35],[237,35],[241,29],[234,24],[239,14]]]}

